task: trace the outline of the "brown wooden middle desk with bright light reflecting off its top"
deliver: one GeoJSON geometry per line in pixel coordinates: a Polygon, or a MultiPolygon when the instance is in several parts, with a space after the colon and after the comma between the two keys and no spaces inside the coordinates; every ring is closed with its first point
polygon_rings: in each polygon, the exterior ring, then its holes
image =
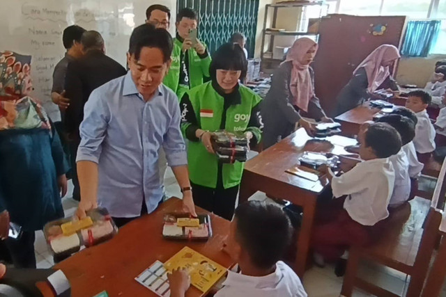
{"type": "MultiPolygon", "coordinates": [[[[323,176],[317,182],[292,175],[286,170],[298,165],[299,154],[304,151],[328,152],[322,144],[307,143],[312,138],[305,129],[298,129],[289,137],[261,152],[245,163],[239,200],[245,202],[256,191],[262,191],[275,198],[289,200],[303,207],[302,226],[297,241],[294,271],[300,277],[304,275],[309,252],[316,200],[328,186],[328,179],[323,176]]],[[[326,138],[334,144],[334,154],[348,154],[344,147],[354,145],[356,141],[344,136],[326,138]]]]}

